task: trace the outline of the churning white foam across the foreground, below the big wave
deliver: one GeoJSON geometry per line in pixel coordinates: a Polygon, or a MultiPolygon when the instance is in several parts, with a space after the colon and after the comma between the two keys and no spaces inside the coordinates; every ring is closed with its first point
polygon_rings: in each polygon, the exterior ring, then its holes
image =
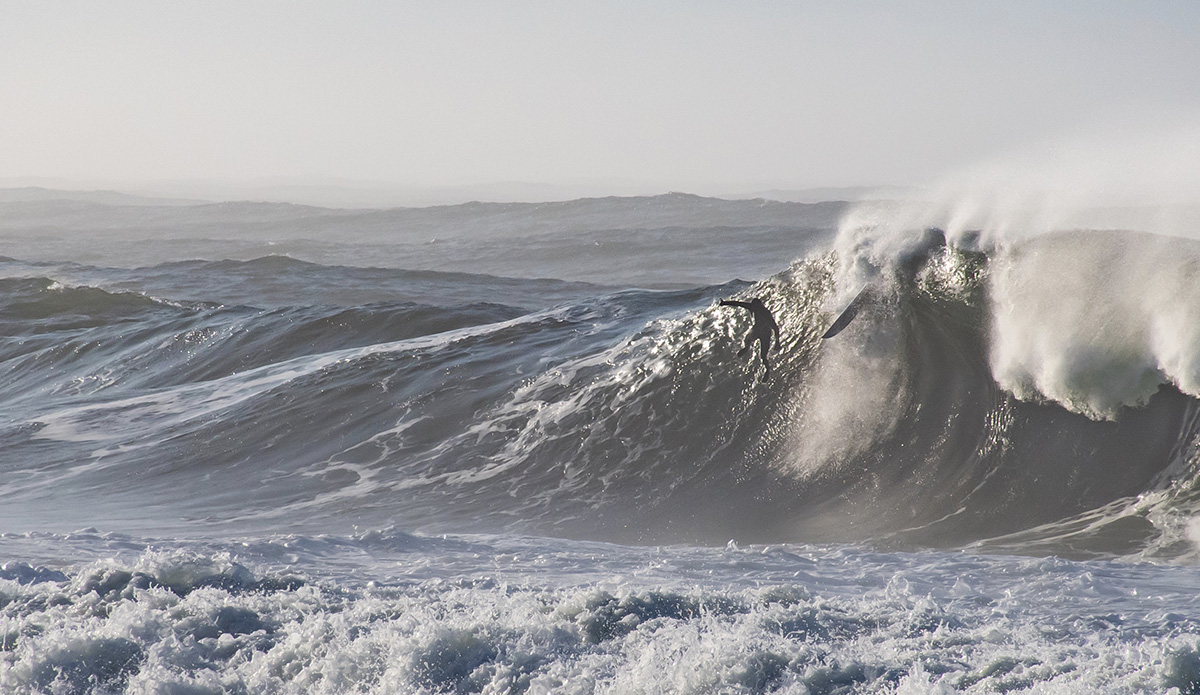
{"type": "MultiPolygon", "coordinates": [[[[103,543],[44,541],[60,555],[103,543]]],[[[65,580],[0,579],[0,689],[1132,694],[1198,684],[1189,607],[1200,586],[1183,568],[386,533],[236,547],[244,557],[180,546],[84,562],[65,580]],[[314,576],[280,581],[296,562],[314,576]]]]}

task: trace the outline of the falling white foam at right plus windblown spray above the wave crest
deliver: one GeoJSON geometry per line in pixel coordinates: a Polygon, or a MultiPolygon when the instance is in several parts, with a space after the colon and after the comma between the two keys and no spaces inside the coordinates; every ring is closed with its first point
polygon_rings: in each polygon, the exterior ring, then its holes
{"type": "Polygon", "coordinates": [[[839,295],[936,227],[991,258],[990,361],[1003,388],[1092,418],[1168,383],[1198,395],[1200,251],[1178,239],[1200,239],[1198,155],[1194,120],[1094,131],[956,172],[922,200],[858,205],[839,229],[839,295]]]}

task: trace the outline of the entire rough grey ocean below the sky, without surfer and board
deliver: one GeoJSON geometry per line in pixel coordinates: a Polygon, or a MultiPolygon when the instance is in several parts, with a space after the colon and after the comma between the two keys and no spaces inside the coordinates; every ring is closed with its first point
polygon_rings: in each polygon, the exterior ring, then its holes
{"type": "Polygon", "coordinates": [[[889,210],[4,192],[0,691],[1200,693],[1200,241],[889,210]]]}

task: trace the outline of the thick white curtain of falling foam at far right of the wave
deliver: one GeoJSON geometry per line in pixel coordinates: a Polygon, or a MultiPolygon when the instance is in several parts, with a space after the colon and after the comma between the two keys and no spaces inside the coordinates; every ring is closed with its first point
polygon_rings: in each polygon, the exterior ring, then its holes
{"type": "Polygon", "coordinates": [[[1078,233],[992,259],[991,366],[1018,397],[1093,418],[1163,384],[1200,395],[1200,250],[1078,233]]]}

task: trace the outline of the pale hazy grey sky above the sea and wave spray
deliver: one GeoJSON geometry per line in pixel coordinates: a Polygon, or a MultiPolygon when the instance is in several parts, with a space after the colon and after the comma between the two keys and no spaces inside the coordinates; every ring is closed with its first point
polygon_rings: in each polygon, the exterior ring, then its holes
{"type": "Polygon", "coordinates": [[[0,179],[918,184],[1200,122],[1200,2],[0,0],[0,179]]]}

